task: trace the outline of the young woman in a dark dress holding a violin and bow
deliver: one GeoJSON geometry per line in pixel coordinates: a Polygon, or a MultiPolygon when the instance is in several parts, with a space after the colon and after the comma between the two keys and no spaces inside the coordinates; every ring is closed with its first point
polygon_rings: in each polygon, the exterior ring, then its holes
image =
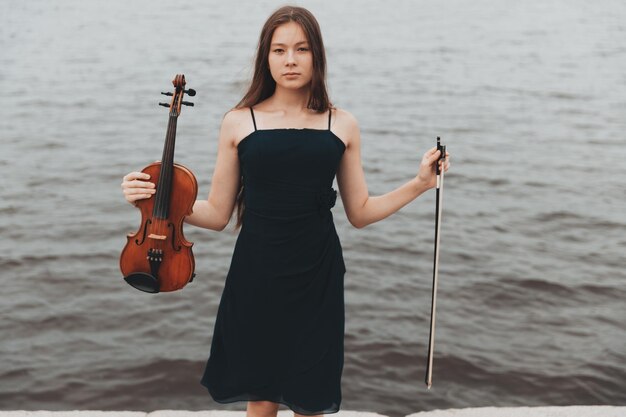
{"type": "MultiPolygon", "coordinates": [[[[207,200],[185,222],[223,230],[237,205],[241,227],[201,384],[220,403],[248,401],[248,417],[339,411],[346,272],[331,208],[337,177],[350,223],[363,228],[436,183],[436,147],[419,172],[370,197],[356,119],[333,107],[315,17],[285,6],[266,21],[248,92],[222,121],[207,200]]],[[[441,163],[448,170],[449,154],[441,163]]],[[[124,177],[126,200],[155,193],[140,172],[124,177]]]]}

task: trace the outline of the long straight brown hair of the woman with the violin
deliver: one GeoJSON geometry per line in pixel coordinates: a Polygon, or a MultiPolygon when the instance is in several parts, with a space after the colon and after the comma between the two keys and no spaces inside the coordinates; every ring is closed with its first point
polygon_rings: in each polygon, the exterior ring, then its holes
{"type": "MultiPolygon", "coordinates": [[[[283,6],[272,13],[263,25],[254,59],[254,75],[252,76],[250,86],[241,101],[231,110],[254,106],[274,94],[276,81],[272,78],[268,61],[270,44],[276,28],[292,21],[302,27],[313,54],[313,76],[311,78],[307,108],[318,113],[324,113],[334,108],[326,88],[326,51],[319,23],[315,16],[304,7],[283,6]]],[[[243,200],[242,177],[239,192],[237,193],[237,223],[235,224],[235,230],[241,227],[245,210],[243,200]]]]}

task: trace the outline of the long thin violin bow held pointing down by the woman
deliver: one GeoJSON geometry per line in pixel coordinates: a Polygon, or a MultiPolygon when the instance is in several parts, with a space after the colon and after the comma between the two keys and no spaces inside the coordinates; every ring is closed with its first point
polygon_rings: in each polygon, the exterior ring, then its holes
{"type": "Polygon", "coordinates": [[[433,385],[433,352],[435,348],[435,308],[437,306],[437,281],[439,279],[439,238],[441,231],[441,212],[443,202],[443,173],[439,168],[439,162],[446,158],[446,147],[441,144],[437,136],[437,150],[441,151],[436,163],[437,172],[437,195],[435,198],[435,255],[433,261],[433,294],[430,307],[430,336],[428,337],[428,358],[426,366],[426,386],[428,389],[433,385]]]}

